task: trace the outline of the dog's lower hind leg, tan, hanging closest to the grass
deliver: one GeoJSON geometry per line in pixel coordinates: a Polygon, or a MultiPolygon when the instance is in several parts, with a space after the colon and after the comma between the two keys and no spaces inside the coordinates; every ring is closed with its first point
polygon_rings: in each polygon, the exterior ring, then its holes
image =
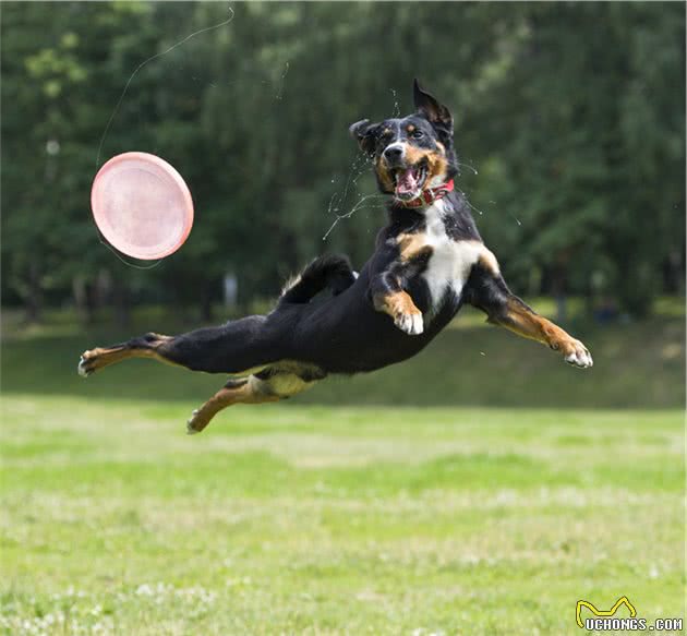
{"type": "Polygon", "coordinates": [[[230,380],[201,408],[195,409],[186,422],[189,435],[200,433],[222,409],[234,404],[263,404],[278,401],[305,391],[324,374],[313,370],[299,373],[266,369],[256,375],[230,380]]]}

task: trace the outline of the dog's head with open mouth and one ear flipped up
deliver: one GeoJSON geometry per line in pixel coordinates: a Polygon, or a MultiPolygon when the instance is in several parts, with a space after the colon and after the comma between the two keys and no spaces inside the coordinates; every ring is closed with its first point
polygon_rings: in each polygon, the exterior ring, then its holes
{"type": "Polygon", "coordinates": [[[399,201],[417,199],[458,173],[454,149],[454,120],[446,106],[413,84],[418,112],[400,119],[350,128],[360,147],[374,160],[379,190],[399,201]]]}

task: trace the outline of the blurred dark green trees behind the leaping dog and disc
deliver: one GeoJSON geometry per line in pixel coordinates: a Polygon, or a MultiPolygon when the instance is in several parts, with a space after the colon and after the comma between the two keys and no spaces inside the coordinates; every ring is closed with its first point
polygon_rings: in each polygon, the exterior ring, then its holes
{"type": "Polygon", "coordinates": [[[459,188],[514,289],[631,315],[684,292],[684,3],[1,9],[2,299],[31,320],[125,322],[144,300],[209,320],[226,275],[246,305],[320,253],[360,267],[384,211],[347,128],[409,112],[413,76],[454,112],[459,188]],[[143,65],[116,110],[142,62],[231,15],[143,65]],[[133,149],[174,165],[196,206],[149,269],[89,212],[99,165],[133,149]]]}

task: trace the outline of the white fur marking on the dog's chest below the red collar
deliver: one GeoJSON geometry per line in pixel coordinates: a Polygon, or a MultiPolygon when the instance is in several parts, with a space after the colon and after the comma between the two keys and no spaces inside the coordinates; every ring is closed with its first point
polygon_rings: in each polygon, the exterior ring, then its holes
{"type": "Polygon", "coordinates": [[[455,241],[448,237],[442,219],[444,212],[444,202],[439,200],[425,213],[426,244],[433,251],[422,276],[432,297],[431,313],[441,309],[447,291],[460,296],[472,265],[486,251],[480,241],[455,241]]]}

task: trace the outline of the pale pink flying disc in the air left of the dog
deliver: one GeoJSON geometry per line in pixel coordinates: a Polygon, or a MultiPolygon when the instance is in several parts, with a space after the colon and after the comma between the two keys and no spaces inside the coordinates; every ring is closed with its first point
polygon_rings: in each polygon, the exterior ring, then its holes
{"type": "Polygon", "coordinates": [[[93,181],[91,208],[103,237],[134,259],[169,256],[193,226],[193,200],[183,178],[148,153],[107,161],[93,181]]]}

